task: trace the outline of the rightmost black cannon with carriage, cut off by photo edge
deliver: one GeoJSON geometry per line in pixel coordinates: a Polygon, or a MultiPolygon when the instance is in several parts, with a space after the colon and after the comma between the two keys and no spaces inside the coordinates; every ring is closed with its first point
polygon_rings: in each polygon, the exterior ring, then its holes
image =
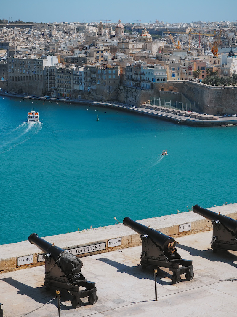
{"type": "Polygon", "coordinates": [[[199,205],[193,206],[192,210],[194,213],[211,220],[213,225],[211,248],[213,252],[221,249],[237,251],[237,220],[199,205]]]}

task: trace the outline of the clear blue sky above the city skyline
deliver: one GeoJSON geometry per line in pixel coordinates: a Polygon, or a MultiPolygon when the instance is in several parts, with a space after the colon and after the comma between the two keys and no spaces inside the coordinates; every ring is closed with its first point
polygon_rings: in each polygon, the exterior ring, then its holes
{"type": "Polygon", "coordinates": [[[0,19],[24,22],[90,22],[112,20],[122,23],[155,22],[165,23],[192,21],[230,21],[236,22],[236,0],[41,0],[19,1],[2,0],[0,19]]]}

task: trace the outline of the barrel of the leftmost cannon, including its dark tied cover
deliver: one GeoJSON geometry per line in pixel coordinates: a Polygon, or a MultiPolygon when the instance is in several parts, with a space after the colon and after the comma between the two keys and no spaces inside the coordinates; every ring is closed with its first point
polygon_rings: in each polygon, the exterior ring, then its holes
{"type": "Polygon", "coordinates": [[[69,253],[67,250],[61,249],[56,245],[40,238],[36,233],[32,233],[29,238],[31,244],[36,245],[44,253],[50,253],[55,263],[61,268],[65,275],[81,272],[82,261],[69,253]]]}

